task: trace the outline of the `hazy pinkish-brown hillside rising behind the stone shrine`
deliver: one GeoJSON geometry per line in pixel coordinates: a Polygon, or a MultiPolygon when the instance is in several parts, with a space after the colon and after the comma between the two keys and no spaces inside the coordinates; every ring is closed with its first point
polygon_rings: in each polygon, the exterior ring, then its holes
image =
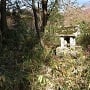
{"type": "Polygon", "coordinates": [[[85,4],[82,8],[68,7],[64,14],[64,25],[74,25],[80,22],[90,22],[90,7],[85,4]]]}

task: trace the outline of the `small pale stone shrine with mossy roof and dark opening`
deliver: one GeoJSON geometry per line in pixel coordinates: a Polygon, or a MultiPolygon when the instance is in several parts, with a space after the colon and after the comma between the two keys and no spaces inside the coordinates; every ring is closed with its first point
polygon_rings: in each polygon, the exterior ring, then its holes
{"type": "Polygon", "coordinates": [[[62,29],[61,34],[56,33],[56,36],[59,38],[60,41],[60,46],[56,48],[56,55],[60,55],[61,52],[68,53],[71,50],[75,51],[76,38],[80,35],[79,27],[64,28],[65,30],[62,29]],[[65,31],[66,33],[63,33],[63,31],[65,31]]]}

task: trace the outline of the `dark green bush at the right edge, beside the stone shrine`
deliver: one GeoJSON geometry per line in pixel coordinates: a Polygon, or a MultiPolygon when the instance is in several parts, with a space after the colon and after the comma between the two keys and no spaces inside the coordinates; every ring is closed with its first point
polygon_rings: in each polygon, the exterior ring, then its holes
{"type": "Polygon", "coordinates": [[[80,23],[81,35],[77,39],[77,43],[82,45],[84,49],[88,48],[90,45],[90,23],[85,23],[84,21],[80,23]]]}

